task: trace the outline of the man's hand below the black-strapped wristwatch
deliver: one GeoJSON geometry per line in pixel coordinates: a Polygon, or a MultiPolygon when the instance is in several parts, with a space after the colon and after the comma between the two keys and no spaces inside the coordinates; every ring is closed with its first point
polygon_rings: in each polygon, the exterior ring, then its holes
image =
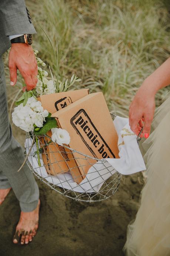
{"type": "Polygon", "coordinates": [[[37,84],[37,61],[31,46],[26,43],[12,43],[9,53],[10,84],[17,82],[17,69],[23,76],[27,90],[32,90],[37,84]]]}

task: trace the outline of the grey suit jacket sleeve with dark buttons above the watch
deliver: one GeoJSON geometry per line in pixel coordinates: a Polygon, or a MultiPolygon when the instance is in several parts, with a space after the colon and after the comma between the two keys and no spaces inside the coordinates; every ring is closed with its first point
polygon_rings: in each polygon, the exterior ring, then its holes
{"type": "Polygon", "coordinates": [[[10,35],[35,34],[24,0],[0,0],[0,55],[10,48],[10,35]]]}

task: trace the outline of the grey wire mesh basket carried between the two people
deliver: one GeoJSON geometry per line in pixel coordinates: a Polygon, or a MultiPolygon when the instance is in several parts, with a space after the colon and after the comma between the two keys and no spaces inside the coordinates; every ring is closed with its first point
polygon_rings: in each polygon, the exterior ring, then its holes
{"type": "MultiPolygon", "coordinates": [[[[113,120],[116,117],[111,116],[113,120]]],[[[107,160],[90,157],[66,145],[61,147],[48,135],[27,133],[25,148],[30,170],[63,196],[77,201],[102,201],[115,194],[119,187],[121,174],[107,160]]]]}

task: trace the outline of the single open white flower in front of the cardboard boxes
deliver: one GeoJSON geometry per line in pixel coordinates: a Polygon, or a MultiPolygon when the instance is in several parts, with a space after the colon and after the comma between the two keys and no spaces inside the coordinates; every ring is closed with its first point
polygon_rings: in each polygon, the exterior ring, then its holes
{"type": "Polygon", "coordinates": [[[56,142],[60,146],[63,146],[63,144],[68,145],[70,143],[70,135],[69,132],[67,132],[66,130],[61,128],[52,128],[51,132],[51,139],[53,142],[56,142]]]}

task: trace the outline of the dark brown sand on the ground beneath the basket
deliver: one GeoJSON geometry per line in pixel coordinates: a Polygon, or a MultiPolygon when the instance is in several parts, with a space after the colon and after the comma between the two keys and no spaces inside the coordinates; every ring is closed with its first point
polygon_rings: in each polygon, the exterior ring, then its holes
{"type": "MultiPolygon", "coordinates": [[[[13,127],[19,142],[24,132],[13,127]]],[[[0,206],[1,256],[123,256],[128,223],[134,219],[142,174],[124,176],[119,190],[97,203],[66,198],[46,184],[40,188],[40,225],[36,237],[27,245],[13,244],[20,207],[13,191],[0,206]]]]}

